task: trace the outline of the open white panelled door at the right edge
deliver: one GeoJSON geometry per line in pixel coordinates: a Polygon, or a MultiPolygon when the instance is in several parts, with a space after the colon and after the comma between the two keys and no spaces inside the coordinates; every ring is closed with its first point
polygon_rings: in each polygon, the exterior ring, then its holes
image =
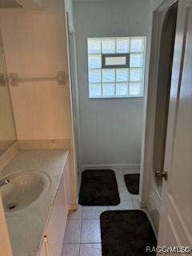
{"type": "Polygon", "coordinates": [[[192,8],[190,4],[191,1],[178,1],[164,166],[168,179],[164,180],[162,186],[159,246],[192,247],[192,8]]]}

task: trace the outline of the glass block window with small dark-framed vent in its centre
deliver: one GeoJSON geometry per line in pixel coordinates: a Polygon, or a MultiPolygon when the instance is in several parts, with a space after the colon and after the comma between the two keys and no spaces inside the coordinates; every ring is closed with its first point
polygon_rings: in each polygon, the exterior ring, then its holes
{"type": "Polygon", "coordinates": [[[146,37],[88,38],[89,98],[142,97],[146,37]]]}

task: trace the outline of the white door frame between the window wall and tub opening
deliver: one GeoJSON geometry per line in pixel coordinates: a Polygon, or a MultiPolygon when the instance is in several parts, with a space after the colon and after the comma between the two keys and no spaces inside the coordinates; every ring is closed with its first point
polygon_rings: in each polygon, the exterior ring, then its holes
{"type": "MultiPolygon", "coordinates": [[[[140,204],[142,207],[147,206],[147,201],[149,200],[150,175],[153,175],[151,171],[153,171],[154,125],[158,90],[159,51],[161,45],[161,32],[159,27],[162,28],[162,24],[160,24],[160,14],[163,10],[168,10],[175,2],[178,2],[178,0],[165,0],[153,11],[149,50],[150,60],[148,63],[148,86],[146,86],[144,94],[144,118],[142,128],[141,175],[139,187],[140,204]]],[[[161,194],[156,190],[155,195],[156,198],[154,198],[154,202],[160,212],[161,194]]]]}

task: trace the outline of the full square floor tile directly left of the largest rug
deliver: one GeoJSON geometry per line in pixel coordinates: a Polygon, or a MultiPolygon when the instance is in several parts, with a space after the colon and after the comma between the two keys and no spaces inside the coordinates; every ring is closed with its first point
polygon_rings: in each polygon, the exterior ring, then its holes
{"type": "Polygon", "coordinates": [[[81,243],[101,242],[99,219],[83,219],[81,243]]]}

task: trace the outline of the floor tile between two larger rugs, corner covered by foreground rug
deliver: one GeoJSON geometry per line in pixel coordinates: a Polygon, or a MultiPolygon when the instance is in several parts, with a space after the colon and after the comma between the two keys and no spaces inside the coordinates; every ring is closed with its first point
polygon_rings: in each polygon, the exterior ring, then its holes
{"type": "Polygon", "coordinates": [[[100,218],[100,214],[106,210],[109,210],[108,206],[83,206],[82,218],[100,218]]]}

